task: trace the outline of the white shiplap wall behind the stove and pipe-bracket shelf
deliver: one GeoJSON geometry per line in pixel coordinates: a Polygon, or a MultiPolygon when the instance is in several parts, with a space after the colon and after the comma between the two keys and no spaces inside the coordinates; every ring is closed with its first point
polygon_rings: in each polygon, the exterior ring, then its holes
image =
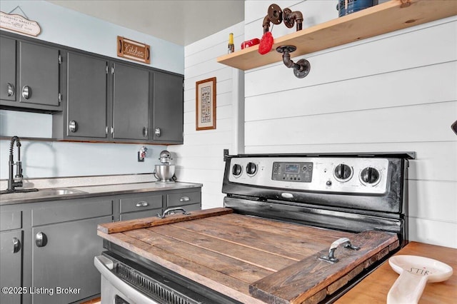
{"type": "MultiPolygon", "coordinates": [[[[246,39],[269,4],[245,2],[246,39]]],[[[336,1],[278,5],[302,11],[303,28],[337,16],[336,1]]],[[[456,16],[301,58],[311,62],[302,79],[282,62],[246,71],[246,153],[415,151],[409,238],[457,248],[456,16]]]]}

